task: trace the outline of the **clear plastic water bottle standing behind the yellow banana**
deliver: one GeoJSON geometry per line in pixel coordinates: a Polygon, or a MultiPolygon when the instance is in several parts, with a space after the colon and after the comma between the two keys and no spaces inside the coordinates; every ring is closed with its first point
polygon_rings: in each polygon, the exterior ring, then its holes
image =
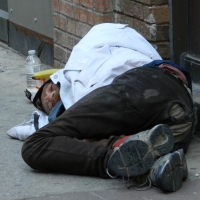
{"type": "Polygon", "coordinates": [[[32,79],[33,74],[41,71],[41,61],[35,55],[35,50],[28,51],[25,62],[27,87],[35,87],[36,81],[32,79]]]}

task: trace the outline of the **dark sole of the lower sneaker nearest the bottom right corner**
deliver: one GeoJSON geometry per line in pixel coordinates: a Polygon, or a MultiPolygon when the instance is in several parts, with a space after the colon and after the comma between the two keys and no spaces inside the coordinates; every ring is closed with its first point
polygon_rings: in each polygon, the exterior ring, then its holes
{"type": "Polygon", "coordinates": [[[183,180],[188,176],[185,156],[180,151],[169,155],[168,161],[156,175],[156,186],[169,192],[175,192],[182,186],[183,180]]]}

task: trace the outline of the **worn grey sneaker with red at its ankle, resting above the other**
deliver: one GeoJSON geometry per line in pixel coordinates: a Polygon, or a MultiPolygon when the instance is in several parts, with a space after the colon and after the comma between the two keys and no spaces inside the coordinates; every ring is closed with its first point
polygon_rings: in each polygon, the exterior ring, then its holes
{"type": "Polygon", "coordinates": [[[156,125],[132,135],[114,148],[107,172],[122,177],[142,175],[150,170],[155,159],[169,153],[173,146],[174,137],[168,125],[156,125]]]}

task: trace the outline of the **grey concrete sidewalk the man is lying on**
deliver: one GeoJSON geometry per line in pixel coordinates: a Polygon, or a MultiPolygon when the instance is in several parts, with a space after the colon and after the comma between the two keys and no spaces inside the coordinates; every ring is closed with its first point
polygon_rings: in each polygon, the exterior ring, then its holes
{"type": "MultiPolygon", "coordinates": [[[[200,140],[192,140],[186,155],[189,178],[175,193],[148,189],[126,189],[121,179],[41,173],[32,170],[21,158],[22,141],[6,133],[28,120],[35,110],[25,97],[25,57],[0,43],[0,200],[165,200],[200,199],[200,140]],[[199,176],[198,176],[199,175],[199,176]]],[[[81,166],[80,166],[81,167],[81,166]]]]}

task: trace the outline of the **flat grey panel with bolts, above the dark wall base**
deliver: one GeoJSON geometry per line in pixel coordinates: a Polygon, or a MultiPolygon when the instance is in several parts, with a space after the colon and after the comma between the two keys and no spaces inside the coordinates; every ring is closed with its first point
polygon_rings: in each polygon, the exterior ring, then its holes
{"type": "Polygon", "coordinates": [[[51,0],[8,0],[9,21],[53,38],[51,0]]]}

